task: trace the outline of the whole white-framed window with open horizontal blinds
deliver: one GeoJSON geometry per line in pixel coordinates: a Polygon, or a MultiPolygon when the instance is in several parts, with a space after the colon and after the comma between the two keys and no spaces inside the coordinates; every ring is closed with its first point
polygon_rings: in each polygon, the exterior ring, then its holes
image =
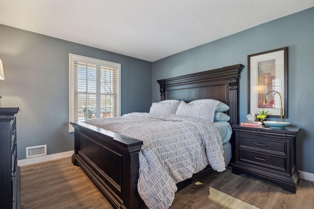
{"type": "Polygon", "coordinates": [[[69,121],[120,116],[120,69],[118,63],[69,55],[69,121]]]}

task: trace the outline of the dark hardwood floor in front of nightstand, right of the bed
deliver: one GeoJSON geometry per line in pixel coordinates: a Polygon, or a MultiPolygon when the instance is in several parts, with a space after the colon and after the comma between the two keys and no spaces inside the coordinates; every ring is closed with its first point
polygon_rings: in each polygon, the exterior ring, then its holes
{"type": "Polygon", "coordinates": [[[171,209],[230,209],[208,199],[209,186],[260,209],[314,209],[314,182],[300,180],[296,193],[250,175],[236,175],[228,168],[222,173],[205,170],[193,183],[178,191],[171,209]]]}

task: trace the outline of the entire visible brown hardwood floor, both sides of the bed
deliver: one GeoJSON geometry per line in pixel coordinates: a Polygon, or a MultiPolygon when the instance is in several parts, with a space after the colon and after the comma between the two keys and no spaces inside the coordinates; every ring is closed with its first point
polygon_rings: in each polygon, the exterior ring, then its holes
{"type": "MultiPolygon", "coordinates": [[[[314,182],[301,179],[293,194],[268,181],[235,175],[231,168],[195,175],[193,184],[176,193],[170,209],[230,209],[209,200],[209,186],[260,209],[314,209],[314,182]]],[[[21,208],[112,209],[71,158],[22,166],[21,208]]]]}

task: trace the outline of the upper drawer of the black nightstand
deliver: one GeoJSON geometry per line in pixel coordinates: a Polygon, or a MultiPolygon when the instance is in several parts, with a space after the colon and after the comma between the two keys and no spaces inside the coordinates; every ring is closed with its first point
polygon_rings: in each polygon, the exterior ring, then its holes
{"type": "Polygon", "coordinates": [[[240,146],[259,148],[267,151],[274,151],[280,154],[287,154],[287,142],[283,140],[261,139],[253,135],[241,135],[240,146]]]}

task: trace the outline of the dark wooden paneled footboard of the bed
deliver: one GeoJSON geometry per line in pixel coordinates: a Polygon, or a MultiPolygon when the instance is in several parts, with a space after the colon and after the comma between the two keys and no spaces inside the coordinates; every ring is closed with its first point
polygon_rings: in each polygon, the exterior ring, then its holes
{"type": "Polygon", "coordinates": [[[143,142],[86,123],[71,124],[75,128],[72,163],[84,170],[114,208],[141,208],[137,179],[143,142]]]}

